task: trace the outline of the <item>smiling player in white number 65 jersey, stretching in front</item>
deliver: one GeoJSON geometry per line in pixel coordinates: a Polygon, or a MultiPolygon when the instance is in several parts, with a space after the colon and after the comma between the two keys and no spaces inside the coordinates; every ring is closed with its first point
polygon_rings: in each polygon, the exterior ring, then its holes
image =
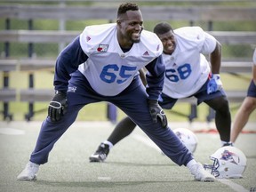
{"type": "Polygon", "coordinates": [[[137,4],[121,4],[116,23],[84,28],[60,52],[54,74],[56,94],[36,148],[17,179],[36,180],[39,166],[47,163],[54,144],[75,122],[78,111],[89,103],[108,101],[130,116],[174,163],[186,165],[196,180],[213,181],[212,174],[167,128],[166,116],[157,101],[164,84],[162,52],[156,34],[143,30],[137,4]],[[147,90],[138,72],[144,67],[148,69],[147,90]]]}

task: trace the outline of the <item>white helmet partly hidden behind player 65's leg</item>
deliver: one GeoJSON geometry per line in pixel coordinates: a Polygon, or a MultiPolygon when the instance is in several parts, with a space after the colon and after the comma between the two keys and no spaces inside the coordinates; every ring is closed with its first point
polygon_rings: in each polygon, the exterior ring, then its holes
{"type": "Polygon", "coordinates": [[[191,132],[186,128],[176,128],[173,130],[173,132],[178,136],[181,142],[188,148],[191,153],[196,151],[198,140],[194,132],[191,132]]]}

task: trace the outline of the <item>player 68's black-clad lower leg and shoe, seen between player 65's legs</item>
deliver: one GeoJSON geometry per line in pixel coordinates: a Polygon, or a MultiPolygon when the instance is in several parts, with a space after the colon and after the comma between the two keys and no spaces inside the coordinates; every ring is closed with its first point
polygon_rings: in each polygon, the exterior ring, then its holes
{"type": "Polygon", "coordinates": [[[100,143],[100,146],[97,150],[89,156],[90,162],[104,162],[108,156],[110,148],[112,148],[120,140],[123,140],[127,137],[136,127],[136,124],[126,116],[118,124],[116,124],[115,129],[108,137],[108,140],[105,140],[100,143]]]}

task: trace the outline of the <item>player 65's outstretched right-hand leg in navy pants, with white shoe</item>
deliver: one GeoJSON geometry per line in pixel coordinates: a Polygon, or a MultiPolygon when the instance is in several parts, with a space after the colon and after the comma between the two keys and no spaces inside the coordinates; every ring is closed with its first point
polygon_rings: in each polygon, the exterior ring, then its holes
{"type": "Polygon", "coordinates": [[[196,180],[213,181],[214,177],[204,170],[202,164],[196,163],[188,148],[169,127],[163,128],[160,121],[153,122],[148,108],[148,94],[144,87],[130,86],[130,88],[132,89],[127,88],[120,93],[118,100],[108,101],[112,101],[118,108],[121,108],[175,164],[187,166],[196,180]],[[125,100],[125,104],[120,100],[125,100]]]}

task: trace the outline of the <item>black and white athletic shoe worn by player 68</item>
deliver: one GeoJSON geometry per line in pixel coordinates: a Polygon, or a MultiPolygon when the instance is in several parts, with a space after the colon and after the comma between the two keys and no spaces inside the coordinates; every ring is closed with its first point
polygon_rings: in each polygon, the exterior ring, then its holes
{"type": "Polygon", "coordinates": [[[105,143],[100,143],[99,148],[92,156],[89,157],[90,162],[104,162],[109,153],[109,146],[105,143]]]}

